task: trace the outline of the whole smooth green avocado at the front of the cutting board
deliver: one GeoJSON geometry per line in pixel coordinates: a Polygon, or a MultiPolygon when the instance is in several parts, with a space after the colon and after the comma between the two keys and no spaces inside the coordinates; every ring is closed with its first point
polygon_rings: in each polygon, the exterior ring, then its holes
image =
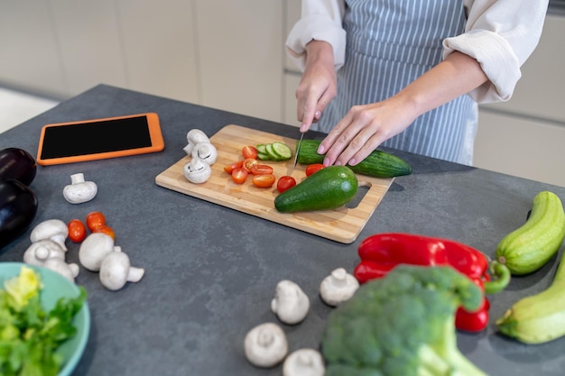
{"type": "Polygon", "coordinates": [[[274,198],[281,213],[330,210],[344,206],[357,194],[359,183],[345,166],[329,166],[274,198]]]}

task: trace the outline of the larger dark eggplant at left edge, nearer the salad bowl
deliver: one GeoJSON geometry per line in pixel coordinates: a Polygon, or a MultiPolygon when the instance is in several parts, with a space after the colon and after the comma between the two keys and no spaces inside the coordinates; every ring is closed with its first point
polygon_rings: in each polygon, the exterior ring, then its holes
{"type": "Polygon", "coordinates": [[[37,213],[37,197],[16,179],[0,179],[0,249],[19,237],[37,213]]]}

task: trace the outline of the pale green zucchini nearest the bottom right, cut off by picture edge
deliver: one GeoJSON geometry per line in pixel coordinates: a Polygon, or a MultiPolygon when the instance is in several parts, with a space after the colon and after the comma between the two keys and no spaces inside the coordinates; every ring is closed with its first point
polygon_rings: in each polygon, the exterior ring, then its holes
{"type": "Polygon", "coordinates": [[[565,253],[551,286],[516,301],[496,320],[496,326],[524,344],[542,344],[565,335],[565,253]]]}

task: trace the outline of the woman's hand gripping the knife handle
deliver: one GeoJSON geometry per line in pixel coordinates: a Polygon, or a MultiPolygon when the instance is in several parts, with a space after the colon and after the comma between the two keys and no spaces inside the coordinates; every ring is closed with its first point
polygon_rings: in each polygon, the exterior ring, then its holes
{"type": "Polygon", "coordinates": [[[306,66],[296,89],[297,118],[301,133],[316,123],[338,92],[333,49],[326,41],[310,41],[306,45],[306,66]]]}

